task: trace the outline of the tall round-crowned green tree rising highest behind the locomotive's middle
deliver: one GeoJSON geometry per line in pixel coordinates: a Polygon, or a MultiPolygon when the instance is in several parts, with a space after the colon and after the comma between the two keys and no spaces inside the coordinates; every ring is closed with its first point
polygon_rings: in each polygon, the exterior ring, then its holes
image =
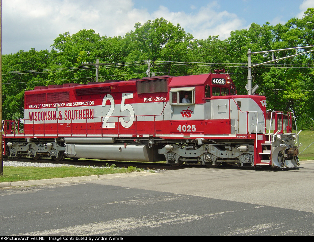
{"type": "MultiPolygon", "coordinates": [[[[128,55],[127,62],[131,61],[188,61],[190,41],[193,36],[187,34],[179,24],[173,25],[163,18],[149,20],[144,25],[135,24],[135,30],[127,33],[124,38],[128,55]]],[[[170,66],[156,63],[152,71],[157,74],[165,74],[176,71],[184,72],[181,66],[170,66]]],[[[145,75],[147,65],[142,67],[130,67],[128,70],[133,73],[145,75]]]]}

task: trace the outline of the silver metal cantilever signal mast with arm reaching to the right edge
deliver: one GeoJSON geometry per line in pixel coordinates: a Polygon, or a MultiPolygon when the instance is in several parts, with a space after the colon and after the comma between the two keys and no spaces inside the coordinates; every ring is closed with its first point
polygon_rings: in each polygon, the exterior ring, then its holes
{"type": "Polygon", "coordinates": [[[271,62],[275,62],[275,61],[291,58],[291,57],[294,57],[294,56],[297,56],[297,55],[302,55],[302,54],[306,54],[306,53],[312,52],[314,50],[309,50],[309,51],[297,54],[297,49],[305,49],[305,48],[311,48],[311,47],[314,47],[314,45],[304,46],[304,47],[293,47],[293,48],[287,48],[287,49],[278,49],[278,50],[259,51],[259,52],[251,52],[251,50],[248,49],[248,51],[247,51],[247,84],[245,86],[245,88],[247,90],[247,95],[252,95],[256,91],[256,89],[258,88],[258,85],[255,85],[252,88],[252,75],[251,75],[252,67],[257,67],[257,66],[260,66],[260,65],[263,65],[263,64],[267,64],[267,63],[271,63],[271,62]],[[275,59],[275,60],[274,60],[274,56],[273,56],[273,60],[271,60],[271,61],[266,61],[266,62],[263,62],[263,63],[260,63],[260,64],[256,64],[256,65],[251,65],[251,54],[261,54],[261,53],[268,53],[268,52],[272,52],[273,53],[273,52],[279,52],[279,51],[284,51],[284,50],[295,50],[295,55],[290,55],[290,56],[286,56],[286,57],[275,59]]]}

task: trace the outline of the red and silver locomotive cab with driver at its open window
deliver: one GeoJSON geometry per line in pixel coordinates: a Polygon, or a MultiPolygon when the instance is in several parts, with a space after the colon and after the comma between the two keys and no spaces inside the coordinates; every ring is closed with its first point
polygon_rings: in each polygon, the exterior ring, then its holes
{"type": "Polygon", "coordinates": [[[236,88],[228,74],[173,77],[169,89],[171,133],[185,137],[236,133],[235,117],[229,111],[236,88]]]}

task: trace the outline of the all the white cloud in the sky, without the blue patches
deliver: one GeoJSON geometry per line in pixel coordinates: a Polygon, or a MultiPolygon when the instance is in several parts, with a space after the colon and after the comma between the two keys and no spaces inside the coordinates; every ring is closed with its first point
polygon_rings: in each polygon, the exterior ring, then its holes
{"type": "MultiPolygon", "coordinates": [[[[197,39],[219,35],[226,39],[230,32],[247,28],[244,17],[230,13],[221,7],[220,1],[207,1],[201,8],[190,5],[191,12],[170,11],[159,6],[154,12],[135,8],[133,0],[4,0],[3,53],[15,53],[34,47],[48,49],[59,34],[75,34],[82,29],[93,29],[100,36],[125,35],[134,30],[135,23],[163,17],[177,23],[197,39]]],[[[303,12],[314,6],[314,0],[300,5],[303,12]]],[[[188,10],[186,10],[188,11],[188,10]]],[[[280,21],[274,19],[274,22],[280,21]]],[[[277,22],[278,23],[278,22],[277,22]]],[[[273,23],[273,24],[277,24],[273,23]]]]}

